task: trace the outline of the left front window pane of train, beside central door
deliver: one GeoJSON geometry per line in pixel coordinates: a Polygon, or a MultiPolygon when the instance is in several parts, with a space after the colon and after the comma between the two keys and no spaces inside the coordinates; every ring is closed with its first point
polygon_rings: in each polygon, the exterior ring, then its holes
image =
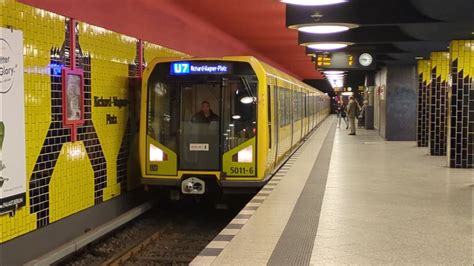
{"type": "Polygon", "coordinates": [[[179,91],[173,84],[156,82],[148,90],[148,128],[150,137],[176,151],[179,127],[179,91]]]}

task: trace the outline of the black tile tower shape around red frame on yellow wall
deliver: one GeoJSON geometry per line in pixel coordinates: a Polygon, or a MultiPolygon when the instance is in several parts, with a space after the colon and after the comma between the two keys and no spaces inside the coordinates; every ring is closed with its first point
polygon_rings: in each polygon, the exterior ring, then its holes
{"type": "MultiPolygon", "coordinates": [[[[68,20],[66,20],[68,24],[68,20]]],[[[51,64],[70,65],[69,27],[61,49],[51,50],[51,64]]],[[[76,35],[77,40],[79,40],[76,35]]],[[[77,67],[84,70],[84,125],[78,127],[78,141],[83,141],[94,170],[94,203],[103,201],[103,189],[107,186],[107,162],[92,122],[91,64],[89,56],[82,56],[76,47],[77,67]]],[[[41,152],[30,177],[30,212],[36,213],[37,227],[49,224],[49,184],[63,144],[71,141],[71,129],[63,126],[62,77],[51,69],[51,124],[41,152]]]]}

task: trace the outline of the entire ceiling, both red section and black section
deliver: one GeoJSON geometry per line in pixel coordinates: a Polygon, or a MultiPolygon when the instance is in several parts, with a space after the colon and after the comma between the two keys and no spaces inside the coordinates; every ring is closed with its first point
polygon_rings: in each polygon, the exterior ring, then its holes
{"type": "Polygon", "coordinates": [[[374,49],[378,65],[414,64],[416,56],[472,39],[472,0],[348,0],[301,7],[279,0],[20,0],[64,16],[195,56],[253,55],[300,79],[324,78],[298,43],[353,42],[374,49]],[[107,12],[104,12],[107,10],[107,12]],[[358,28],[312,35],[287,26],[319,22],[358,28]]]}

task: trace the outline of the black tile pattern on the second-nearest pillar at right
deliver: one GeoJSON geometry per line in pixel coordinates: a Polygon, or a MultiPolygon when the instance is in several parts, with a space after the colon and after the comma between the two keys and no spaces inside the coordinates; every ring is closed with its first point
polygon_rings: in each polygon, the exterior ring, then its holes
{"type": "Polygon", "coordinates": [[[438,66],[432,68],[430,86],[430,153],[446,155],[447,140],[447,82],[441,80],[438,66]]]}

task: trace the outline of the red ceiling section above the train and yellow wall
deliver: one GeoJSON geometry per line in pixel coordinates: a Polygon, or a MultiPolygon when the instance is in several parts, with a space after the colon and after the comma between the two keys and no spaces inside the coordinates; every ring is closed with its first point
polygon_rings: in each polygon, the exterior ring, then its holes
{"type": "Polygon", "coordinates": [[[321,79],[277,0],[21,0],[195,56],[253,55],[321,79]]]}

